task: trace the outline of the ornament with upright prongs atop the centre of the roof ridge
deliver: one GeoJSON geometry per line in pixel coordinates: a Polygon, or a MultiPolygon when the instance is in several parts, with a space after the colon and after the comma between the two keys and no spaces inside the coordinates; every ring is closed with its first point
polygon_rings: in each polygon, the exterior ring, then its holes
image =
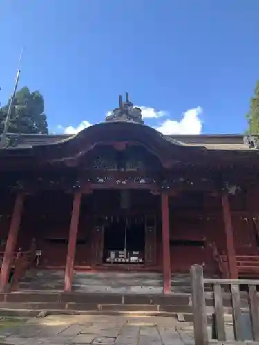
{"type": "Polygon", "coordinates": [[[137,122],[144,124],[142,120],[142,110],[129,100],[128,92],[126,92],[126,101],[122,100],[122,95],[119,95],[119,108],[113,109],[109,115],[106,116],[105,121],[124,121],[137,122]]]}

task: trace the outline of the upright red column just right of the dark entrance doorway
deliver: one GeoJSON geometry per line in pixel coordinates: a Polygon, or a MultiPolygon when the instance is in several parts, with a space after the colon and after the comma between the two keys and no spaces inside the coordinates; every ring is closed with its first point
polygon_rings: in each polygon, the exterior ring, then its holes
{"type": "Polygon", "coordinates": [[[161,195],[162,201],[162,264],[164,293],[171,292],[170,235],[169,235],[169,196],[161,195]]]}

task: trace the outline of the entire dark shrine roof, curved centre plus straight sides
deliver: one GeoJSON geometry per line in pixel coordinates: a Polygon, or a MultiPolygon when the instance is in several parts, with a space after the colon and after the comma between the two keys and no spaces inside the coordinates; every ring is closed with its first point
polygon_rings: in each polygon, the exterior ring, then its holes
{"type": "Polygon", "coordinates": [[[145,146],[166,167],[176,161],[204,161],[204,157],[205,161],[223,159],[230,162],[259,154],[259,150],[244,144],[242,135],[162,135],[144,124],[106,121],[85,128],[76,135],[10,135],[12,146],[0,150],[0,155],[30,155],[39,160],[66,161],[77,159],[98,144],[117,141],[145,146]]]}

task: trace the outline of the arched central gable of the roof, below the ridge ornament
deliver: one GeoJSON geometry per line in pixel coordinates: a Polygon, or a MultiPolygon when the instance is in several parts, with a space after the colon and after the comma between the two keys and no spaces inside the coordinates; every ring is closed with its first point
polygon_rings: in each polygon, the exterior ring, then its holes
{"type": "Polygon", "coordinates": [[[34,146],[35,153],[50,160],[64,160],[79,157],[88,152],[93,146],[115,141],[131,141],[142,144],[153,154],[160,157],[160,161],[174,159],[184,161],[193,157],[195,153],[206,150],[204,147],[189,146],[180,141],[162,135],[160,132],[135,122],[109,121],[85,128],[77,135],[66,137],[51,144],[34,146]]]}

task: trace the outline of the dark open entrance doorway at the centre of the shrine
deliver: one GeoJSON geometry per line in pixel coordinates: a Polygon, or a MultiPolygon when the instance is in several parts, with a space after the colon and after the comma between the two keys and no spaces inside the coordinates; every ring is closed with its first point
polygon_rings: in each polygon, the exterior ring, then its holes
{"type": "Polygon", "coordinates": [[[104,263],[144,264],[144,217],[111,217],[104,227],[104,263]]]}

